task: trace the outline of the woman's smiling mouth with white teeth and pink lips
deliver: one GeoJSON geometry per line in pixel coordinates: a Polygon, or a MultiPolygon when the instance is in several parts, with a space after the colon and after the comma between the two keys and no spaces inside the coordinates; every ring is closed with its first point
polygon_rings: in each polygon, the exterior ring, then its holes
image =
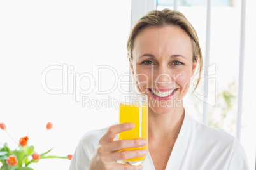
{"type": "Polygon", "coordinates": [[[149,89],[150,94],[155,98],[155,100],[169,100],[178,89],[149,89]]]}

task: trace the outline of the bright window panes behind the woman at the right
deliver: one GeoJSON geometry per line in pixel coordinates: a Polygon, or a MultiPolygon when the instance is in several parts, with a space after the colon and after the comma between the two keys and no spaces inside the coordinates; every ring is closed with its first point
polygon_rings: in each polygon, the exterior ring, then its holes
{"type": "MultiPolygon", "coordinates": [[[[238,103],[239,57],[241,31],[241,1],[211,1],[210,62],[208,68],[208,96],[204,96],[204,78],[196,93],[185,100],[188,112],[202,121],[203,105],[207,107],[207,124],[224,129],[236,136],[238,105],[243,105],[241,117],[241,143],[245,148],[250,169],[255,169],[256,126],[252,84],[253,42],[256,39],[254,1],[246,2],[245,63],[243,78],[243,103],[238,103]],[[204,99],[208,103],[204,104],[204,99]],[[254,121],[253,121],[254,120],[254,121]]],[[[192,23],[199,36],[203,59],[206,56],[207,1],[178,1],[181,11],[192,23]]],[[[170,8],[174,1],[157,1],[157,10],[170,8]]],[[[204,72],[206,74],[206,72],[204,72]]],[[[193,82],[193,81],[192,81],[193,82]]],[[[192,93],[192,92],[190,92],[192,93]]],[[[238,127],[239,128],[239,127],[238,127]]]]}

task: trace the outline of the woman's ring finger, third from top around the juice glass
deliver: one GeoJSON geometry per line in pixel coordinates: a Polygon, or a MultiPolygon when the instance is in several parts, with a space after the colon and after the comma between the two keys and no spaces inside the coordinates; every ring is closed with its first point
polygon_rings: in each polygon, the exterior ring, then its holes
{"type": "Polygon", "coordinates": [[[113,152],[105,156],[104,160],[108,162],[113,162],[117,160],[126,160],[134,157],[143,157],[148,153],[146,149],[138,150],[122,150],[120,152],[113,152]],[[111,156],[110,156],[111,155],[111,156]]]}

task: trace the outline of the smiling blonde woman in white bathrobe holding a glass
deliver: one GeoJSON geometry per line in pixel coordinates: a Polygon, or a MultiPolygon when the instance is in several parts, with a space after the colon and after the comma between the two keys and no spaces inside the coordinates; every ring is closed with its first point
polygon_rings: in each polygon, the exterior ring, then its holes
{"type": "Polygon", "coordinates": [[[148,152],[117,152],[146,145],[146,140],[115,140],[134,128],[115,124],[85,134],[70,169],[248,169],[234,136],[195,121],[183,107],[197,64],[202,70],[196,30],[185,16],[167,9],[150,11],[131,30],[127,50],[136,88],[148,96],[148,152]],[[146,154],[140,166],[117,162],[146,154]]]}

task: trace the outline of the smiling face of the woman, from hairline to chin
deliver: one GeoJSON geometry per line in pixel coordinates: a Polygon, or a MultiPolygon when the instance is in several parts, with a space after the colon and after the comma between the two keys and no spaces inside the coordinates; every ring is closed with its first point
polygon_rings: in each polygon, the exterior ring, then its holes
{"type": "Polygon", "coordinates": [[[159,114],[183,107],[197,62],[192,41],[178,26],[148,27],[136,36],[130,61],[138,91],[159,114]]]}

